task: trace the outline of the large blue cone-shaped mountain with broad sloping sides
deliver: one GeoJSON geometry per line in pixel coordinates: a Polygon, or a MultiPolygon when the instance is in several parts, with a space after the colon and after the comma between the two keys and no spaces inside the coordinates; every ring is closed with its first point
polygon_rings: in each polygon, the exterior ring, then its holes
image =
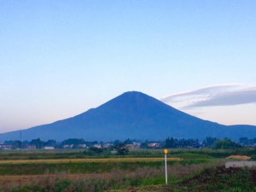
{"type": "Polygon", "coordinates": [[[141,92],[130,91],[84,113],[48,125],[0,134],[0,141],[84,138],[86,141],[116,139],[164,140],[166,137],[256,137],[253,125],[220,125],[183,113],[141,92]]]}

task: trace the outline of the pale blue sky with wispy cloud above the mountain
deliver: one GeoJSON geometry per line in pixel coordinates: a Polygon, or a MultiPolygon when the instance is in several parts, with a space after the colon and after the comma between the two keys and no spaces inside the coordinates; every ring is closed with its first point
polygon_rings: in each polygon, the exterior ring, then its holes
{"type": "Polygon", "coordinates": [[[0,132],[138,90],[256,125],[255,1],[0,1],[0,132]],[[230,102],[234,101],[234,102],[230,102]]]}

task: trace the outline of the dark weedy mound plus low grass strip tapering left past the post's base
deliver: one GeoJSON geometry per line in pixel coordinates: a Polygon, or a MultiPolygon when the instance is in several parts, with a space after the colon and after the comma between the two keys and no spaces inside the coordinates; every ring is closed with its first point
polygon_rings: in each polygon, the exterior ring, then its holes
{"type": "Polygon", "coordinates": [[[113,190],[116,192],[254,192],[256,170],[248,168],[207,167],[194,176],[171,182],[167,186],[148,185],[139,188],[113,190]]]}

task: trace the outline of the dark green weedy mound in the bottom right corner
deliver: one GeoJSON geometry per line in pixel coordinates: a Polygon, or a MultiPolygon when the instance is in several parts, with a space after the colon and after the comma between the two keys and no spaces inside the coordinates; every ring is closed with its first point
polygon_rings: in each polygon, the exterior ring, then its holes
{"type": "Polygon", "coordinates": [[[224,166],[207,168],[185,179],[181,189],[188,191],[256,191],[256,170],[224,166]],[[185,187],[183,187],[185,186],[185,187]]]}

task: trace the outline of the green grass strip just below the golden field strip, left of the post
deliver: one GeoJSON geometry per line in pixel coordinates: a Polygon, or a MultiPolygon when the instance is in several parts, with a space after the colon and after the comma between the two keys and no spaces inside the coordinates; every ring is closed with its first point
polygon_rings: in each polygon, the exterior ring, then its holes
{"type": "Polygon", "coordinates": [[[110,172],[113,169],[134,171],[138,167],[156,167],[164,165],[161,161],[138,162],[70,162],[70,163],[9,163],[0,164],[0,175],[38,175],[55,172],[94,173],[110,172]]]}

